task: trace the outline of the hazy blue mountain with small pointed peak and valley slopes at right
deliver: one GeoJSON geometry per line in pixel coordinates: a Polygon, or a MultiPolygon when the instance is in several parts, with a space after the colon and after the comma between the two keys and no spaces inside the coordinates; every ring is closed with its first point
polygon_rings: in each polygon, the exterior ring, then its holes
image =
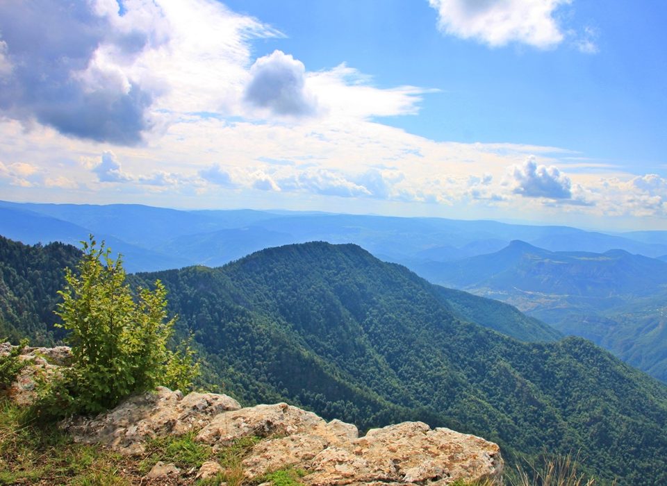
{"type": "Polygon", "coordinates": [[[553,252],[513,241],[488,255],[413,265],[590,339],[667,383],[667,262],[626,251],[553,252]]]}

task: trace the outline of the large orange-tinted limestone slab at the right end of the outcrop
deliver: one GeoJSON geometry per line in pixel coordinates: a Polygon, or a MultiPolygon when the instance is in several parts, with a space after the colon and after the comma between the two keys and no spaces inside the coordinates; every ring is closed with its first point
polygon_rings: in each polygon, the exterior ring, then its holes
{"type": "Polygon", "coordinates": [[[446,485],[458,479],[498,478],[502,459],[498,446],[480,437],[404,422],[351,440],[326,439],[315,428],[261,442],[243,461],[248,478],[288,465],[308,471],[302,481],[313,486],[446,485]]]}

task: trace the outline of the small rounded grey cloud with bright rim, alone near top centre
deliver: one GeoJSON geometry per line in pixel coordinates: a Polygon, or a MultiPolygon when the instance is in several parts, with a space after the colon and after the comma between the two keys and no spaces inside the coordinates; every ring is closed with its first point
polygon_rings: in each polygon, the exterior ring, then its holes
{"type": "Polygon", "coordinates": [[[250,77],[245,100],[252,106],[293,117],[317,112],[317,100],[306,90],[304,63],[283,51],[258,58],[250,68],[250,77]]]}

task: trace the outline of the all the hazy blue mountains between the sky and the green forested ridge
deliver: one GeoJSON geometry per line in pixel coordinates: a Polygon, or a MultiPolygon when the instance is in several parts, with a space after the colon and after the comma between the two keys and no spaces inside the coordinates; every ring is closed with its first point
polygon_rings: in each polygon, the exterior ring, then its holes
{"type": "Polygon", "coordinates": [[[129,271],[216,267],[281,244],[359,244],[434,283],[516,305],[667,381],[666,231],[604,234],[497,221],[0,201],[0,234],[15,240],[78,245],[89,233],[122,253],[129,271]]]}

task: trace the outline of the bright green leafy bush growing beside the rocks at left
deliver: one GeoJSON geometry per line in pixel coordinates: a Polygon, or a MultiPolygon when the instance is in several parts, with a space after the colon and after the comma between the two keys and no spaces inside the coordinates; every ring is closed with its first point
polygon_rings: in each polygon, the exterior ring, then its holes
{"type": "MultiPolygon", "coordinates": [[[[174,319],[166,320],[162,283],[156,280],[153,291],[139,288],[133,299],[120,257],[109,255],[104,243],[83,242],[77,271],[66,270],[67,285],[58,292],[63,302],[56,314],[69,331],[74,360],[52,391],[60,394],[56,403],[73,397],[74,411],[100,412],[156,385],[186,387],[197,372],[188,346],[180,353],[167,349],[174,319]]],[[[52,405],[53,393],[44,399],[52,405]]]]}

